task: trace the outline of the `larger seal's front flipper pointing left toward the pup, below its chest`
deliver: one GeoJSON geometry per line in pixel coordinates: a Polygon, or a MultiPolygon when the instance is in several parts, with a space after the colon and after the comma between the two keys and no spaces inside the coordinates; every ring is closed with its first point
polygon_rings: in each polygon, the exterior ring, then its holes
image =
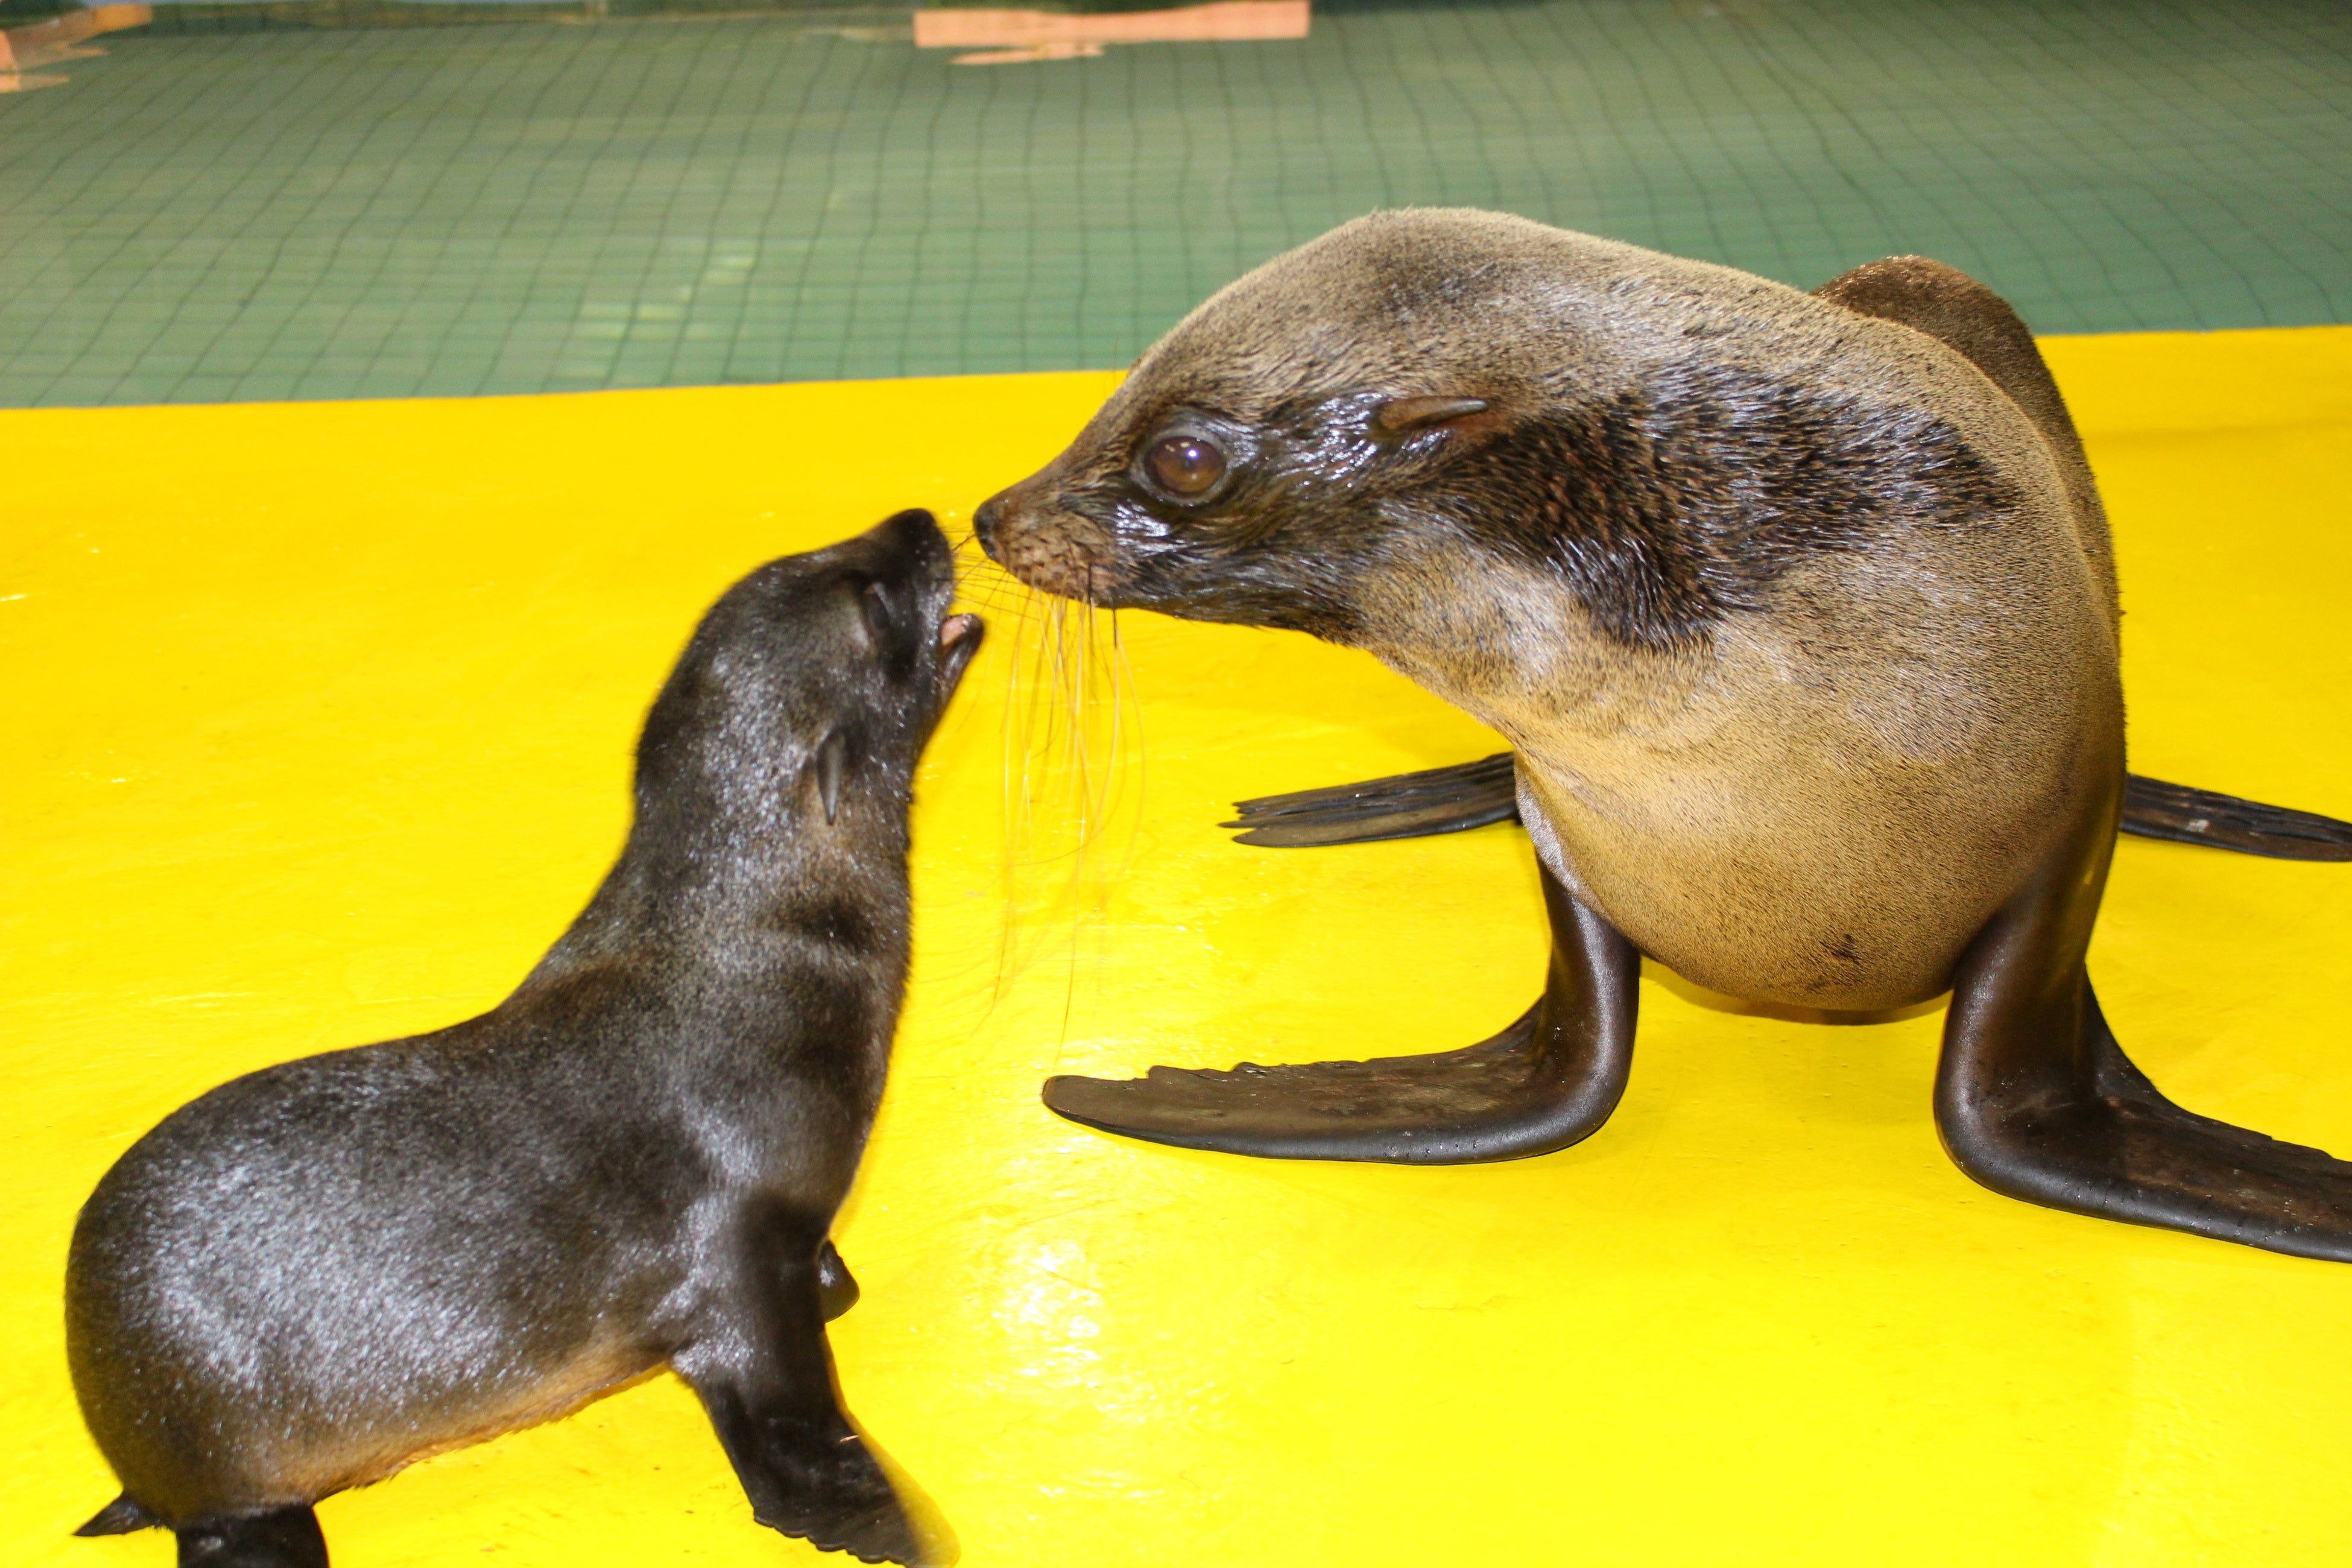
{"type": "Polygon", "coordinates": [[[1303,1067],[1152,1067],[1129,1081],[1056,1077],[1044,1103],[1105,1133],[1270,1159],[1461,1166],[1564,1150],[1625,1093],[1642,954],[1550,872],[1543,903],[1543,999],[1484,1044],[1303,1067]]]}

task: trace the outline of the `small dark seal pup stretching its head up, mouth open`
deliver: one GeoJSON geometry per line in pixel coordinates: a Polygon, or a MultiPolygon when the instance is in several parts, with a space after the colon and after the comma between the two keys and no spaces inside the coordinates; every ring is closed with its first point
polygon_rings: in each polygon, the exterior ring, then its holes
{"type": "Polygon", "coordinates": [[[915,759],[981,642],[929,512],[696,628],[588,910],[468,1023],[247,1074],[82,1206],[66,1352],[183,1566],[320,1568],[310,1505],[673,1366],[753,1514],[934,1563],[840,1406],[826,1232],[882,1095],[915,759]]]}

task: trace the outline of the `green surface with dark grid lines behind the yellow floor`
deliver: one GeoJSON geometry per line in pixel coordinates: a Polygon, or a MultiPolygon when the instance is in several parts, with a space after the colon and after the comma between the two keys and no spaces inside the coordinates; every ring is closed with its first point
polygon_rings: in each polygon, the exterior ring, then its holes
{"type": "Polygon", "coordinates": [[[1122,364],[1404,202],[1924,252],[2042,331],[2352,320],[2333,0],[1331,0],[988,68],[903,9],[158,9],[0,94],[0,404],[1122,364]]]}

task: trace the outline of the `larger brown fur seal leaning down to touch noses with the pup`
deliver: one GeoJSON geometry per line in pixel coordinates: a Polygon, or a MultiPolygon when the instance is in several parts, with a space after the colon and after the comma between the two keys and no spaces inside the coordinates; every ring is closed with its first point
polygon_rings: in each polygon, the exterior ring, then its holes
{"type": "Polygon", "coordinates": [[[1950,990],[1933,1107],[2034,1204],[2352,1260],[2352,1166],[2157,1093],[2084,952],[2124,804],[2107,524],[2016,315],[1802,294],[1482,212],[1230,284],[976,515],[1035,588],[1378,654],[1517,748],[1543,999],[1439,1056],[1058,1077],[1063,1117],[1482,1161],[1616,1107],[1646,952],[1736,997],[1950,990]]]}

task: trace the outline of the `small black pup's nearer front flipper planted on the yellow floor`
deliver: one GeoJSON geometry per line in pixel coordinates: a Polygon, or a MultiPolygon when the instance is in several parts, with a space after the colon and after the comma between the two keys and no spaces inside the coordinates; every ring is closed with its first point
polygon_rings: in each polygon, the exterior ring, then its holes
{"type": "Polygon", "coordinates": [[[753,1519],[868,1563],[955,1561],[929,1505],[910,1486],[901,1493],[842,1410],[816,1248],[788,1218],[771,1218],[767,1232],[746,1241],[694,1342],[670,1356],[710,1413],[753,1519]]]}

